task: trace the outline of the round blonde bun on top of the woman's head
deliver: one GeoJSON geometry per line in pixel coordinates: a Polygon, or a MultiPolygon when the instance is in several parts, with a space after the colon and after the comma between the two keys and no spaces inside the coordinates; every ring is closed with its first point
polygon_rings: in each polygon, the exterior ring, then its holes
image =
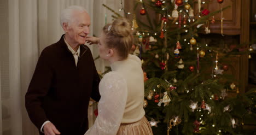
{"type": "Polygon", "coordinates": [[[112,23],[111,31],[119,37],[127,37],[132,34],[132,26],[125,18],[119,18],[112,23]]]}

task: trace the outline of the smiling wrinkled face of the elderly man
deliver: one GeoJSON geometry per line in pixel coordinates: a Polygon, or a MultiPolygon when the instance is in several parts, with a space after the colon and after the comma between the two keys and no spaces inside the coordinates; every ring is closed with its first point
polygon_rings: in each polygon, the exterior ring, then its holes
{"type": "Polygon", "coordinates": [[[90,32],[91,21],[89,14],[74,11],[72,19],[67,27],[66,38],[69,38],[70,44],[85,44],[86,36],[90,32]]]}

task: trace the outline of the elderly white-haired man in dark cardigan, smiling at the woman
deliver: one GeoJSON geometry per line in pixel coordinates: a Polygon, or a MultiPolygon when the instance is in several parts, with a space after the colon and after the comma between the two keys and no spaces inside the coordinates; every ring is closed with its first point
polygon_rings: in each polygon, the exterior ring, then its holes
{"type": "Polygon", "coordinates": [[[98,77],[85,46],[90,16],[79,6],[62,10],[65,34],[46,47],[25,96],[26,109],[40,134],[82,135],[88,130],[90,97],[100,100],[98,77]]]}

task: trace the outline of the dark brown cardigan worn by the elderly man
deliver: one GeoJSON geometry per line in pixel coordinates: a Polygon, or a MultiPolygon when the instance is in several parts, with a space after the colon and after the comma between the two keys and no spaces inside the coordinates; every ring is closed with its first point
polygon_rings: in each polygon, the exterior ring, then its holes
{"type": "Polygon", "coordinates": [[[40,130],[51,121],[61,135],[84,134],[88,130],[90,97],[100,100],[98,77],[91,51],[80,45],[77,66],[63,35],[46,47],[37,62],[25,96],[31,121],[40,130]]]}

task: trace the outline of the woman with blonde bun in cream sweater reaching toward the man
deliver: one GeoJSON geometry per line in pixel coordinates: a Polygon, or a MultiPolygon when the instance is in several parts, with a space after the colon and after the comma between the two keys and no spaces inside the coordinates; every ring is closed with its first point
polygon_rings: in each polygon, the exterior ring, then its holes
{"type": "Polygon", "coordinates": [[[153,134],[144,117],[144,78],[141,60],[130,55],[133,36],[126,19],[117,19],[103,28],[100,38],[88,37],[98,44],[100,57],[110,62],[112,72],[102,78],[98,116],[88,134],[153,134]]]}

